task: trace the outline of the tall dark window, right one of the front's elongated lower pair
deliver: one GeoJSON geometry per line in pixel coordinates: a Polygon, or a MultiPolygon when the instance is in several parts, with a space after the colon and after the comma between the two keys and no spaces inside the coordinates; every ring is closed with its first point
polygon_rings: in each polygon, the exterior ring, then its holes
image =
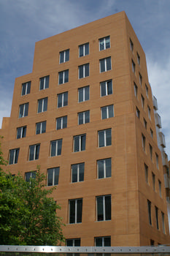
{"type": "Polygon", "coordinates": [[[96,197],[97,221],[111,220],[111,195],[96,197]]]}

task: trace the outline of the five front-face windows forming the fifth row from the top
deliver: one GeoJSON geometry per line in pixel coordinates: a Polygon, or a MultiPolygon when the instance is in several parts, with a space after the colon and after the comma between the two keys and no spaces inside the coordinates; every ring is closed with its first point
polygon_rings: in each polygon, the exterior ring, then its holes
{"type": "MultiPolygon", "coordinates": [[[[50,142],[50,157],[55,157],[61,155],[63,139],[53,140],[50,142]]],[[[85,142],[86,135],[76,135],[73,138],[73,151],[85,151],[85,142]]],[[[98,147],[110,146],[112,145],[112,129],[103,129],[98,131],[98,147]]],[[[40,144],[35,144],[29,146],[29,156],[28,160],[36,160],[39,159],[39,149],[40,144]]],[[[14,148],[9,150],[9,165],[18,163],[20,148],[14,148]]]]}

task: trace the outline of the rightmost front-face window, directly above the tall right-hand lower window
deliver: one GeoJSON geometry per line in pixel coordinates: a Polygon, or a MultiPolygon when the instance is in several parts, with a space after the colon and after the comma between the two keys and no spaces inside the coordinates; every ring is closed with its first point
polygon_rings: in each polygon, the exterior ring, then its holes
{"type": "Polygon", "coordinates": [[[100,159],[97,161],[98,178],[108,178],[112,175],[111,158],[100,159]]]}

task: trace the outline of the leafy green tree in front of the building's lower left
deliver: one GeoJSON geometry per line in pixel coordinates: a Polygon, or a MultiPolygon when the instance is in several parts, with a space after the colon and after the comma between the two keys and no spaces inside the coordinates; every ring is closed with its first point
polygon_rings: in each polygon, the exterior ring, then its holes
{"type": "MultiPolygon", "coordinates": [[[[0,153],[0,165],[5,161],[0,153]]],[[[0,170],[0,244],[57,245],[64,241],[60,206],[45,189],[45,176],[36,171],[30,182],[20,174],[0,170]]]]}

